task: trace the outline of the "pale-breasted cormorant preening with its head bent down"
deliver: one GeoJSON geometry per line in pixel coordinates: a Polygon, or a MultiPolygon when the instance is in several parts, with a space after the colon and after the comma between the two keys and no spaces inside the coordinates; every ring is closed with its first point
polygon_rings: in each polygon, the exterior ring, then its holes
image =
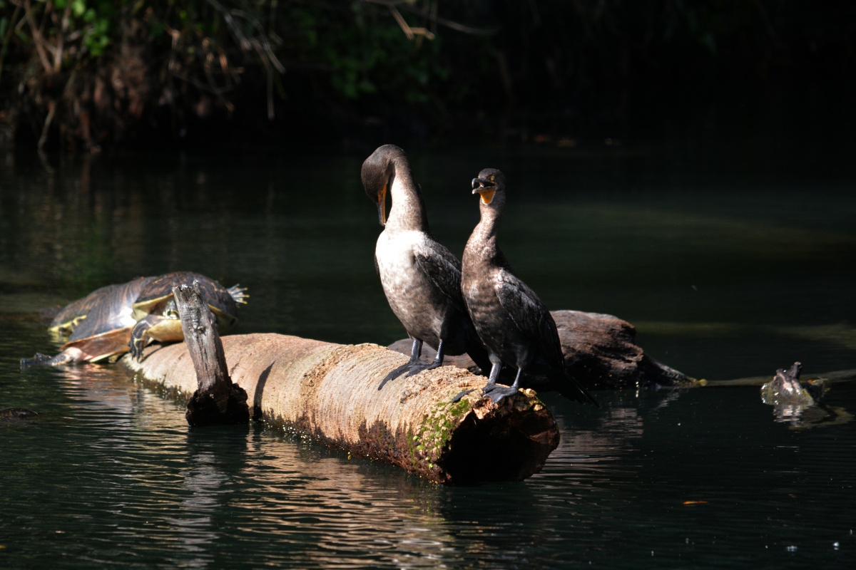
{"type": "Polygon", "coordinates": [[[410,361],[390,372],[377,389],[403,373],[412,376],[442,366],[447,354],[467,352],[487,370],[487,350],[461,297],[461,262],[431,237],[407,155],[393,144],[384,144],[363,162],[362,179],[384,226],[377,238],[375,268],[389,307],[413,339],[410,361]],[[388,192],[392,196],[389,219],[388,192]],[[437,349],[431,363],[419,360],[423,343],[437,349]]]}

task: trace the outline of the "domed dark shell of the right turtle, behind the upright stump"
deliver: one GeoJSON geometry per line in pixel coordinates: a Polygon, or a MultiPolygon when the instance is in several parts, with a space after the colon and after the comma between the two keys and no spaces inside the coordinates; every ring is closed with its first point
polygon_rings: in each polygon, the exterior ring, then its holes
{"type": "Polygon", "coordinates": [[[193,285],[193,281],[199,281],[199,291],[217,318],[217,328],[220,332],[227,332],[229,328],[235,326],[238,322],[238,303],[244,303],[242,290],[237,287],[226,289],[218,281],[190,271],[166,273],[152,278],[140,291],[134,303],[134,320],[145,319],[148,314],[159,312],[172,300],[173,287],[193,285]],[[235,291],[234,297],[233,291],[235,291]]]}

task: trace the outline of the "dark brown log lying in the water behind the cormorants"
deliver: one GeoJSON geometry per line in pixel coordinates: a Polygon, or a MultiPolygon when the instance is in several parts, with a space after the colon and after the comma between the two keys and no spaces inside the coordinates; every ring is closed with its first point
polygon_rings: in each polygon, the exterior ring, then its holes
{"type": "MultiPolygon", "coordinates": [[[[626,320],[611,314],[581,311],[550,311],[556,320],[565,369],[586,388],[635,388],[694,385],[693,379],[645,355],[636,344],[636,329],[626,320]]],[[[389,348],[409,355],[410,339],[390,344],[389,348]]],[[[423,358],[432,360],[437,353],[427,344],[423,358]]],[[[467,356],[447,356],[446,364],[477,370],[467,356]]],[[[545,387],[544,379],[525,377],[522,385],[545,387]]]]}

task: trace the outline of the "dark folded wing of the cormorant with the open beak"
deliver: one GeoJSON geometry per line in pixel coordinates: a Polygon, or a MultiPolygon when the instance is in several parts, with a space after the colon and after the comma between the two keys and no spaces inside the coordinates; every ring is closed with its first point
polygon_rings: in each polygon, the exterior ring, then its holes
{"type": "Polygon", "coordinates": [[[541,347],[548,361],[564,360],[556,321],[529,285],[502,268],[496,283],[496,297],[520,332],[541,347]]]}

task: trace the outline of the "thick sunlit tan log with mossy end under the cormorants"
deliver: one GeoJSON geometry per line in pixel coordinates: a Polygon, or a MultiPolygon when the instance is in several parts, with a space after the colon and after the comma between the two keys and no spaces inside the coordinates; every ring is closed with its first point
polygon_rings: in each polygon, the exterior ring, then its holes
{"type": "MultiPolygon", "coordinates": [[[[256,419],[439,483],[517,480],[538,473],[559,444],[550,411],[533,391],[498,405],[474,391],[484,377],[440,367],[389,382],[407,357],[376,344],[343,345],[277,334],[223,337],[229,375],[256,419]]],[[[185,344],[148,347],[122,363],[187,401],[197,388],[185,344]]]]}

